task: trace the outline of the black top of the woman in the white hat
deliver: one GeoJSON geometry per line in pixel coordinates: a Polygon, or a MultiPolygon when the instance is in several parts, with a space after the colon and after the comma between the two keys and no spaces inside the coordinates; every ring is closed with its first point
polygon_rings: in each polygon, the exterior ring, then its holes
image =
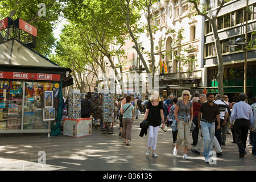
{"type": "Polygon", "coordinates": [[[146,109],[149,109],[148,115],[147,115],[147,121],[148,125],[151,126],[160,126],[161,125],[161,115],[160,115],[160,109],[163,110],[163,102],[158,102],[158,105],[154,106],[152,105],[151,101],[147,102],[146,109]]]}

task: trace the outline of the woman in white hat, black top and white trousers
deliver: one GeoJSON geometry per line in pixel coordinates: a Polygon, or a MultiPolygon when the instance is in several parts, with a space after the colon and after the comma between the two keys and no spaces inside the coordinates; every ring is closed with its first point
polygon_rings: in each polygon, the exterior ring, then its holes
{"type": "Polygon", "coordinates": [[[148,149],[146,155],[148,156],[152,147],[152,156],[157,158],[155,154],[156,142],[158,139],[158,130],[161,122],[164,128],[164,114],[163,114],[163,102],[159,97],[159,93],[154,91],[150,97],[150,101],[147,102],[146,112],[144,119],[148,121],[148,149]]]}

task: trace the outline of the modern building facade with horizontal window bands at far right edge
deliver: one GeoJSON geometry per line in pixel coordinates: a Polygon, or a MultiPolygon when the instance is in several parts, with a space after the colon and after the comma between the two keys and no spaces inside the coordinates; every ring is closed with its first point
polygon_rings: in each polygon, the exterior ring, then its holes
{"type": "MultiPolygon", "coordinates": [[[[218,7],[218,1],[213,3],[213,14],[218,7]],[[215,9],[214,9],[215,8],[215,9]]],[[[253,34],[256,27],[256,1],[249,1],[249,13],[246,29],[246,1],[230,1],[222,7],[217,17],[218,36],[220,38],[222,59],[224,62],[224,94],[227,94],[230,102],[238,102],[238,94],[243,92],[245,46],[229,46],[230,41],[238,38],[247,40],[256,39],[253,34]]],[[[213,33],[208,20],[205,20],[204,30],[204,68],[207,69],[208,92],[217,93],[217,72],[218,63],[214,48],[213,33]]],[[[247,96],[250,102],[251,97],[256,95],[256,53],[255,49],[247,51],[247,96]]]]}

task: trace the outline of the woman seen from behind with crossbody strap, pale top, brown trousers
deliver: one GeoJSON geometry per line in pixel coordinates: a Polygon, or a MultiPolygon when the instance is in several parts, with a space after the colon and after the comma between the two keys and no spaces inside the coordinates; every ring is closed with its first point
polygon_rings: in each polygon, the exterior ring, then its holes
{"type": "Polygon", "coordinates": [[[129,146],[128,140],[131,140],[131,125],[134,121],[134,106],[131,105],[131,96],[126,96],[126,104],[121,107],[121,114],[123,115],[121,137],[125,138],[125,144],[129,146]]]}

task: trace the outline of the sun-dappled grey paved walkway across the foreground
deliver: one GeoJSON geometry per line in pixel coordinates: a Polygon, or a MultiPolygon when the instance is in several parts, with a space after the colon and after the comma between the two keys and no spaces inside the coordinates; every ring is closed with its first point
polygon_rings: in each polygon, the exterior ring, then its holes
{"type": "MultiPolygon", "coordinates": [[[[101,135],[100,129],[93,128],[92,135],[73,138],[63,135],[47,138],[45,135],[13,136],[1,135],[0,170],[12,171],[168,171],[168,170],[256,170],[256,156],[249,154],[251,146],[246,146],[245,158],[239,158],[238,147],[232,142],[232,135],[227,135],[226,145],[222,146],[223,156],[217,157],[217,164],[204,162],[203,154],[188,151],[189,160],[172,154],[172,131],[159,130],[156,154],[158,158],[146,156],[148,136],[139,137],[139,123],[143,116],[135,119],[130,146],[125,146],[123,138],[118,137],[118,125],[115,135],[101,135]],[[45,152],[45,153],[44,153],[45,152]],[[40,154],[40,155],[39,155],[40,154]],[[45,154],[46,164],[38,163],[45,154]]],[[[248,135],[249,137],[249,135],[248,135]]],[[[192,142],[192,136],[191,142],[192,142]]],[[[195,146],[192,146],[194,148],[195,146]]],[[[202,148],[203,150],[203,148],[202,148]]],[[[44,161],[44,160],[41,160],[44,161]]]]}

